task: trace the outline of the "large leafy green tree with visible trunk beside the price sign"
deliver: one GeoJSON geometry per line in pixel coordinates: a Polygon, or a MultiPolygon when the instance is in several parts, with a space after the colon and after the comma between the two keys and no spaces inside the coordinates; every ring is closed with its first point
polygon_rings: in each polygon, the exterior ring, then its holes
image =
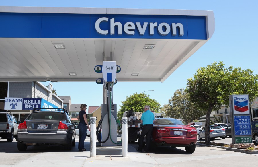
{"type": "Polygon", "coordinates": [[[193,104],[200,110],[206,110],[205,143],[210,143],[210,113],[229,106],[230,94],[249,94],[250,100],[257,97],[258,75],[241,68],[224,68],[223,62],[201,67],[187,81],[186,91],[193,104]]]}

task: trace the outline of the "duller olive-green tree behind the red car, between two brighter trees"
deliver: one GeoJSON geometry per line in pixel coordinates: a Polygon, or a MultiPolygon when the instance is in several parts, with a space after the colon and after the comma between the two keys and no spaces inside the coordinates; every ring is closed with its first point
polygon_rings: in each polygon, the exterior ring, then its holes
{"type": "Polygon", "coordinates": [[[189,99],[189,94],[183,88],[177,89],[168,102],[169,104],[165,104],[161,109],[165,115],[170,118],[182,119],[187,123],[206,113],[206,111],[198,110],[193,105],[189,99]]]}

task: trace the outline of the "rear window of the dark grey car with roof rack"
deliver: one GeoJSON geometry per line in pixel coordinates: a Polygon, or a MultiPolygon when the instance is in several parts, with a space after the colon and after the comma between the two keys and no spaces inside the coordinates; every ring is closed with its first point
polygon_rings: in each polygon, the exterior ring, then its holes
{"type": "Polygon", "coordinates": [[[28,117],[28,119],[50,119],[62,121],[65,120],[65,114],[60,112],[34,112],[28,117]]]}

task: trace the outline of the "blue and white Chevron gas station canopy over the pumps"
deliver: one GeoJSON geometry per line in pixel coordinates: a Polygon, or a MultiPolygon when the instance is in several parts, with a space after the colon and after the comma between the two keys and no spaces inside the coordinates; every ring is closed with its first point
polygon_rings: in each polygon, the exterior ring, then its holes
{"type": "Polygon", "coordinates": [[[208,41],[213,11],[0,6],[0,81],[163,82],[208,41]]]}

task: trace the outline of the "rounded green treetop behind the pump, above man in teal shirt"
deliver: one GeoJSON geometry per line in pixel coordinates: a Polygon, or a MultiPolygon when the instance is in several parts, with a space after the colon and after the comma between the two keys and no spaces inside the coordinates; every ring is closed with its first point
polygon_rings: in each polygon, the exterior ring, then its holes
{"type": "Polygon", "coordinates": [[[126,100],[122,101],[122,105],[120,105],[121,108],[117,113],[118,119],[122,119],[123,113],[131,109],[133,109],[134,112],[144,112],[143,108],[145,105],[150,106],[150,110],[154,112],[160,112],[160,104],[156,100],[149,98],[149,95],[145,93],[134,93],[129,97],[126,96],[126,100]]]}

